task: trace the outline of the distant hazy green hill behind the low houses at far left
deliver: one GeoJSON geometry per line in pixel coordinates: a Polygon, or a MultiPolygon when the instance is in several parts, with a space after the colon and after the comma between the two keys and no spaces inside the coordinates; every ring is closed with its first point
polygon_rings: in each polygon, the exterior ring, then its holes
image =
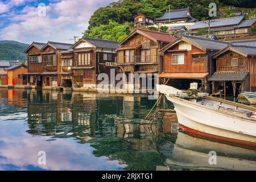
{"type": "Polygon", "coordinates": [[[28,46],[28,44],[13,40],[2,40],[0,41],[0,60],[24,61],[27,59],[27,56],[23,53],[23,51],[28,46]]]}

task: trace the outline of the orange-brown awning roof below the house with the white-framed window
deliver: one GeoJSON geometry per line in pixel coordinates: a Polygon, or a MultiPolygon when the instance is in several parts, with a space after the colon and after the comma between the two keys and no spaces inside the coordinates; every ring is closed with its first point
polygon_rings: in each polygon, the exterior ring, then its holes
{"type": "Polygon", "coordinates": [[[168,73],[163,72],[159,78],[183,78],[183,79],[202,79],[209,75],[209,73],[168,73]]]}

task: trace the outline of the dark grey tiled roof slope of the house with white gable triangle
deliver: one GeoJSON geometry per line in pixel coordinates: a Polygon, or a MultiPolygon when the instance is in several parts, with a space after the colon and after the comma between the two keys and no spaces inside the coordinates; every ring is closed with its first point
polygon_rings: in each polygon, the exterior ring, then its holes
{"type": "Polygon", "coordinates": [[[102,39],[94,39],[94,38],[87,38],[87,37],[84,37],[84,40],[86,40],[87,42],[93,44],[98,48],[117,49],[119,47],[118,42],[115,42],[112,40],[102,40],[102,39]]]}

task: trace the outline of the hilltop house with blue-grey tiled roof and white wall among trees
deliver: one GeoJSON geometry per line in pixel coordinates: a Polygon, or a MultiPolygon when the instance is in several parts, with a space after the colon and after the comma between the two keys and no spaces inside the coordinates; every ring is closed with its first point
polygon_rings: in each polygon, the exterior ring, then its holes
{"type": "Polygon", "coordinates": [[[169,28],[185,26],[189,29],[195,24],[195,21],[196,19],[191,16],[189,9],[185,8],[167,10],[162,17],[156,18],[155,23],[159,26],[168,26],[169,28]]]}

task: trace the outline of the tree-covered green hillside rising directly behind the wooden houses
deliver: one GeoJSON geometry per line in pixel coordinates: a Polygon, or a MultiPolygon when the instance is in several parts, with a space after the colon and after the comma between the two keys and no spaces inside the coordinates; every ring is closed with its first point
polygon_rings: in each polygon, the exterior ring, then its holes
{"type": "Polygon", "coordinates": [[[222,12],[221,18],[233,16],[236,11],[244,11],[246,18],[255,14],[255,0],[119,0],[96,10],[84,35],[120,41],[130,33],[134,15],[144,14],[158,18],[165,13],[168,5],[171,9],[189,7],[191,15],[197,20],[213,19],[216,17],[209,16],[210,3],[216,3],[218,11],[222,12]],[[229,10],[230,6],[232,10],[229,10]]]}

